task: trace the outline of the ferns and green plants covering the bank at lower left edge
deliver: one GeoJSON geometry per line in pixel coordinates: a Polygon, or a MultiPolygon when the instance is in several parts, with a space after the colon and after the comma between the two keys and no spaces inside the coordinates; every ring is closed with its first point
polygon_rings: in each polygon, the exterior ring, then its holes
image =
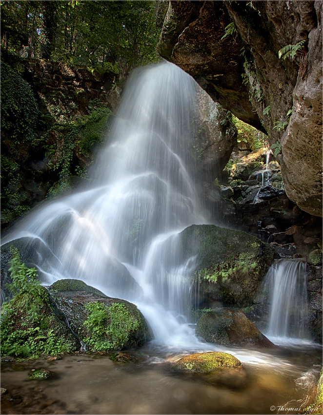
{"type": "Polygon", "coordinates": [[[8,288],[15,295],[1,307],[1,354],[33,358],[41,353],[55,354],[72,349],[71,343],[62,341],[49,329],[55,317],[46,316],[48,298],[37,280],[36,269],[21,263],[16,248],[10,250],[12,283],[8,288]]]}

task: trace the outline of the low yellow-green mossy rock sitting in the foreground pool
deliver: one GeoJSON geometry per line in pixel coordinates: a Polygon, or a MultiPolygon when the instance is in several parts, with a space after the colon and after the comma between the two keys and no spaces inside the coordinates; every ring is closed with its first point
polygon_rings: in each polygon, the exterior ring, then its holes
{"type": "Polygon", "coordinates": [[[173,369],[189,373],[211,373],[222,367],[241,366],[241,361],[229,353],[206,352],[189,354],[175,362],[173,369]]]}

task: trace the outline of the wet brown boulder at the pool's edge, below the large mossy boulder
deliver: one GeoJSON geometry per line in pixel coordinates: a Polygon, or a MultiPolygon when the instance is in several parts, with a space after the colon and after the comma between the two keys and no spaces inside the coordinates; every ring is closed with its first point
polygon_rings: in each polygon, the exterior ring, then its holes
{"type": "Polygon", "coordinates": [[[196,335],[208,343],[273,347],[242,311],[208,311],[197,322],[196,335]]]}

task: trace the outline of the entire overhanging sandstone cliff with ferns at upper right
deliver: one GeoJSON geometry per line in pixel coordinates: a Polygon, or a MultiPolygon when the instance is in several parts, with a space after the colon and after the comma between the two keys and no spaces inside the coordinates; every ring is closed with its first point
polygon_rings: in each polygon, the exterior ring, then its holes
{"type": "Polygon", "coordinates": [[[170,1],[159,46],[212,99],[267,132],[280,153],[287,196],[317,216],[322,215],[321,9],[321,1],[170,1]],[[223,38],[230,22],[235,30],[223,38]],[[302,41],[293,58],[279,59],[284,46],[302,41]]]}

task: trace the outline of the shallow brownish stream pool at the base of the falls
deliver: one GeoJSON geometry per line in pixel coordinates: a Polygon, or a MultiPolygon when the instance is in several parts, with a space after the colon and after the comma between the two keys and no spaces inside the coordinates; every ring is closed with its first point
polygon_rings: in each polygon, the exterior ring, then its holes
{"type": "Polygon", "coordinates": [[[3,400],[1,413],[297,414],[315,397],[311,393],[321,368],[320,345],[303,342],[266,351],[204,346],[234,354],[242,368],[209,375],[178,373],[172,362],[193,351],[156,342],[130,351],[134,362],[86,353],[51,362],[8,362],[2,364],[1,386],[12,400],[3,400]],[[56,376],[29,380],[31,370],[40,367],[56,376]]]}

